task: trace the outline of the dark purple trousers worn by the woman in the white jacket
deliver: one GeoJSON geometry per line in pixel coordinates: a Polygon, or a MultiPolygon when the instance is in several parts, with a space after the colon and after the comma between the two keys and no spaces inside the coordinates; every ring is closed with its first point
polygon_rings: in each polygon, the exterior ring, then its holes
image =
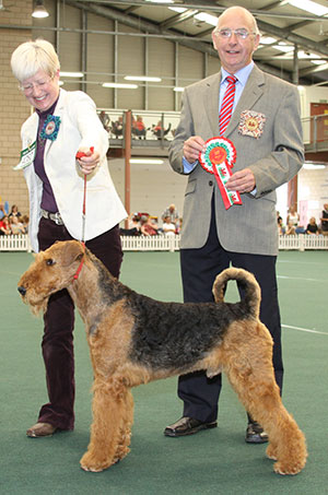
{"type": "MultiPolygon", "coordinates": [[[[38,229],[40,250],[56,240],[72,240],[63,225],[42,219],[38,229]]],[[[122,251],[118,226],[87,240],[86,247],[118,278],[122,251]]],[[[45,329],[42,342],[46,367],[49,402],[42,406],[38,422],[50,423],[60,429],[74,427],[74,305],[65,288],[51,295],[44,316],[45,329]]]]}

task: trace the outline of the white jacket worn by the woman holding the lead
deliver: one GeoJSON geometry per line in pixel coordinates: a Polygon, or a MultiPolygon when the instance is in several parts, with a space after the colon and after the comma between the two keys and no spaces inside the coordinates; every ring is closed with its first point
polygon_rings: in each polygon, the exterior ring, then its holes
{"type": "MultiPolygon", "coordinates": [[[[75,154],[81,146],[94,146],[101,154],[99,165],[87,175],[84,238],[89,240],[127,216],[108,170],[108,134],[96,115],[94,102],[80,91],[60,90],[54,115],[60,117],[60,127],[55,141],[46,140],[45,170],[65,226],[77,239],[82,237],[84,175],[79,169],[75,154]]],[[[37,139],[37,128],[38,116],[34,113],[22,126],[23,150],[37,139]]],[[[37,252],[43,184],[33,164],[24,169],[24,176],[30,193],[28,233],[32,248],[37,252]]]]}

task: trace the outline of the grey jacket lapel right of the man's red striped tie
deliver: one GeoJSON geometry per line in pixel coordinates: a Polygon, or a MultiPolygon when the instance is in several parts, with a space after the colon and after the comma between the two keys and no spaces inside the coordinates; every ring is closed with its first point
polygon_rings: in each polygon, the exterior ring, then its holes
{"type": "Polygon", "coordinates": [[[250,110],[258,98],[263,94],[265,78],[263,73],[255,66],[249,74],[246,86],[241,95],[236,108],[232,115],[231,121],[225,131],[225,135],[231,134],[239,125],[241,113],[245,109],[250,110]]]}

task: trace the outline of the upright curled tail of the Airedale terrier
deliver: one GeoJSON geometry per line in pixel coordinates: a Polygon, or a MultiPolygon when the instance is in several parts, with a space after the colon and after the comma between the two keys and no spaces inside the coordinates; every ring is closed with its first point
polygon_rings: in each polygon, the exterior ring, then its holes
{"type": "Polygon", "coordinates": [[[247,306],[250,315],[258,318],[261,300],[260,287],[254,274],[242,268],[227,268],[216,276],[212,290],[215,303],[223,303],[226,284],[230,280],[235,280],[237,282],[238,287],[244,294],[242,303],[247,306]]]}

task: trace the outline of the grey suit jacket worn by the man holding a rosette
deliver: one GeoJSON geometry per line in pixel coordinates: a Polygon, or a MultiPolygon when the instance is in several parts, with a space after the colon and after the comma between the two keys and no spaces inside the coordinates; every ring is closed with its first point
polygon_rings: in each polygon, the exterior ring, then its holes
{"type": "MultiPolygon", "coordinates": [[[[219,135],[221,72],[186,87],[180,122],[169,148],[173,169],[184,174],[183,146],[190,135],[204,141],[219,135]]],[[[289,181],[304,162],[300,98],[296,86],[254,67],[225,132],[237,152],[233,172],[249,167],[256,195],[242,195],[242,205],[225,210],[214,175],[198,163],[185,193],[181,248],[200,248],[208,238],[214,189],[218,236],[227,251],[278,252],[276,188],[289,181]],[[241,114],[253,110],[266,118],[257,139],[241,130],[241,114]]]]}

